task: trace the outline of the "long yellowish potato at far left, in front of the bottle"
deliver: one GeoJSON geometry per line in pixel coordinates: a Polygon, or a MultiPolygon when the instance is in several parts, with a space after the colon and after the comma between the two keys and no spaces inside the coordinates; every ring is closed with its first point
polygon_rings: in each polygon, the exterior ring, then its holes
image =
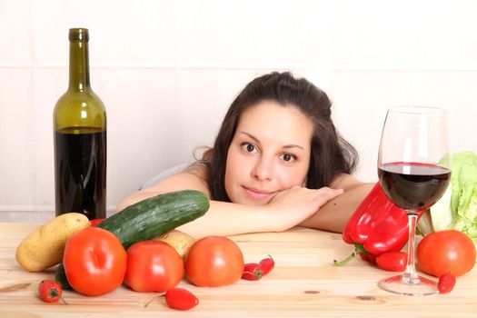
{"type": "Polygon", "coordinates": [[[28,272],[41,272],[63,260],[65,243],[90,225],[84,214],[62,214],[28,234],[16,248],[16,262],[28,272]]]}

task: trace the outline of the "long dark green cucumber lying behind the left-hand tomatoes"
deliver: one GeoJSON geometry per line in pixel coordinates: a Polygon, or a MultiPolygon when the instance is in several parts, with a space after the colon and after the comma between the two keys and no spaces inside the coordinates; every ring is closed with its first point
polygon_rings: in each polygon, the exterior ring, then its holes
{"type": "Polygon", "coordinates": [[[194,221],[209,209],[209,198],[196,190],[158,194],[132,204],[97,227],[115,234],[124,249],[194,221]]]}

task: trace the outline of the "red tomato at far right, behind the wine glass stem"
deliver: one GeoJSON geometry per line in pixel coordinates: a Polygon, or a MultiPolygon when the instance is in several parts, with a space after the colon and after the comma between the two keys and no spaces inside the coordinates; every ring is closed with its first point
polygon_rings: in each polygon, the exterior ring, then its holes
{"type": "Polygon", "coordinates": [[[475,264],[475,246],[466,234],[455,230],[426,235],[417,246],[419,269],[436,277],[444,273],[460,276],[475,264]]]}

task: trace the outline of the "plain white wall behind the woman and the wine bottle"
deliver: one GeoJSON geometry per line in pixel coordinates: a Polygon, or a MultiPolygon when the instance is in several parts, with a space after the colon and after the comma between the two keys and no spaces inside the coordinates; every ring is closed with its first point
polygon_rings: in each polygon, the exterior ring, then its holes
{"type": "Polygon", "coordinates": [[[113,209],[210,145],[235,94],[272,70],[330,95],[364,181],[377,179],[392,105],[447,108],[454,150],[477,150],[476,13],[471,0],[0,0],[0,219],[54,209],[52,114],[67,86],[70,27],[90,30],[113,209]]]}

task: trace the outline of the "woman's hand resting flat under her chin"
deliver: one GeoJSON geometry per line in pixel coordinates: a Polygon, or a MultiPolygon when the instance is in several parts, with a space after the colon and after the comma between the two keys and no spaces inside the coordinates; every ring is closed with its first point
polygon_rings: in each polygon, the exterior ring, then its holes
{"type": "Polygon", "coordinates": [[[343,189],[308,189],[296,185],[276,194],[265,207],[270,214],[270,222],[276,223],[273,226],[275,232],[282,232],[301,224],[318,212],[324,204],[341,194],[343,189]]]}

